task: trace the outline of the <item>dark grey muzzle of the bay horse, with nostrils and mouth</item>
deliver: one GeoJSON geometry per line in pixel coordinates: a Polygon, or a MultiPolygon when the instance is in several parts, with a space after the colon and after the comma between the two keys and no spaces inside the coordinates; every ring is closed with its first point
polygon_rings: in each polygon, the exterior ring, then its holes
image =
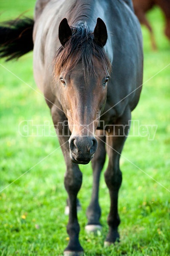
{"type": "Polygon", "coordinates": [[[98,142],[95,137],[70,137],[70,158],[73,163],[87,164],[92,160],[97,147],[98,142]]]}

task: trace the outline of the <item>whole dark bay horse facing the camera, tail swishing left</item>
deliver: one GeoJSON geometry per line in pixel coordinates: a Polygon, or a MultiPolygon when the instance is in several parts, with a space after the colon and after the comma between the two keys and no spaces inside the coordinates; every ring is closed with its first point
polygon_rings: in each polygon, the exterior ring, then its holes
{"type": "Polygon", "coordinates": [[[1,57],[19,58],[34,45],[35,81],[51,109],[66,162],[69,244],[64,254],[83,253],[77,218],[82,183],[78,164],[90,160],[93,188],[86,230],[101,227],[98,189],[106,151],[104,177],[111,203],[105,244],[113,244],[119,239],[119,159],[143,76],[141,29],[132,2],[37,0],[34,20],[9,21],[0,27],[0,35],[1,57]]]}

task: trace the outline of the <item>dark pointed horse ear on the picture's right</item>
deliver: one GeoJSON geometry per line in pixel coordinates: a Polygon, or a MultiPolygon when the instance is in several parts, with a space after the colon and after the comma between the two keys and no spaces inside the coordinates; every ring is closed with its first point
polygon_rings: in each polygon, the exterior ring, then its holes
{"type": "Polygon", "coordinates": [[[107,28],[103,20],[101,18],[97,19],[97,23],[94,30],[94,40],[96,44],[98,44],[101,47],[104,47],[104,45],[107,42],[107,28]]]}

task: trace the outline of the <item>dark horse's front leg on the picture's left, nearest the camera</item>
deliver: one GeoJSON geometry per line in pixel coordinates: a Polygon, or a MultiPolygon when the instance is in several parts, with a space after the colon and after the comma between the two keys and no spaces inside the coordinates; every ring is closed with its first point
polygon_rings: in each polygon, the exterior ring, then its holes
{"type": "Polygon", "coordinates": [[[55,106],[52,107],[52,119],[55,125],[58,139],[63,151],[63,156],[66,162],[66,174],[64,177],[64,185],[69,196],[69,222],[67,225],[67,233],[69,235],[69,244],[64,250],[64,256],[79,256],[83,253],[83,248],[79,242],[80,226],[78,224],[77,217],[77,194],[81,188],[82,173],[78,167],[78,164],[72,163],[69,157],[69,136],[68,126],[62,120],[65,116],[63,113],[59,113],[55,106]],[[60,123],[60,125],[58,125],[60,123]],[[66,136],[64,136],[66,135],[66,136]]]}

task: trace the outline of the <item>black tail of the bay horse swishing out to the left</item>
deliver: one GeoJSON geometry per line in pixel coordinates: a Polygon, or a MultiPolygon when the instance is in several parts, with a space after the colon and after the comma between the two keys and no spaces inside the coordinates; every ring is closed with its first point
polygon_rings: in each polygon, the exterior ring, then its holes
{"type": "Polygon", "coordinates": [[[34,20],[28,17],[0,24],[0,58],[18,59],[33,49],[34,20]],[[1,26],[2,25],[2,26],[1,26]]]}

